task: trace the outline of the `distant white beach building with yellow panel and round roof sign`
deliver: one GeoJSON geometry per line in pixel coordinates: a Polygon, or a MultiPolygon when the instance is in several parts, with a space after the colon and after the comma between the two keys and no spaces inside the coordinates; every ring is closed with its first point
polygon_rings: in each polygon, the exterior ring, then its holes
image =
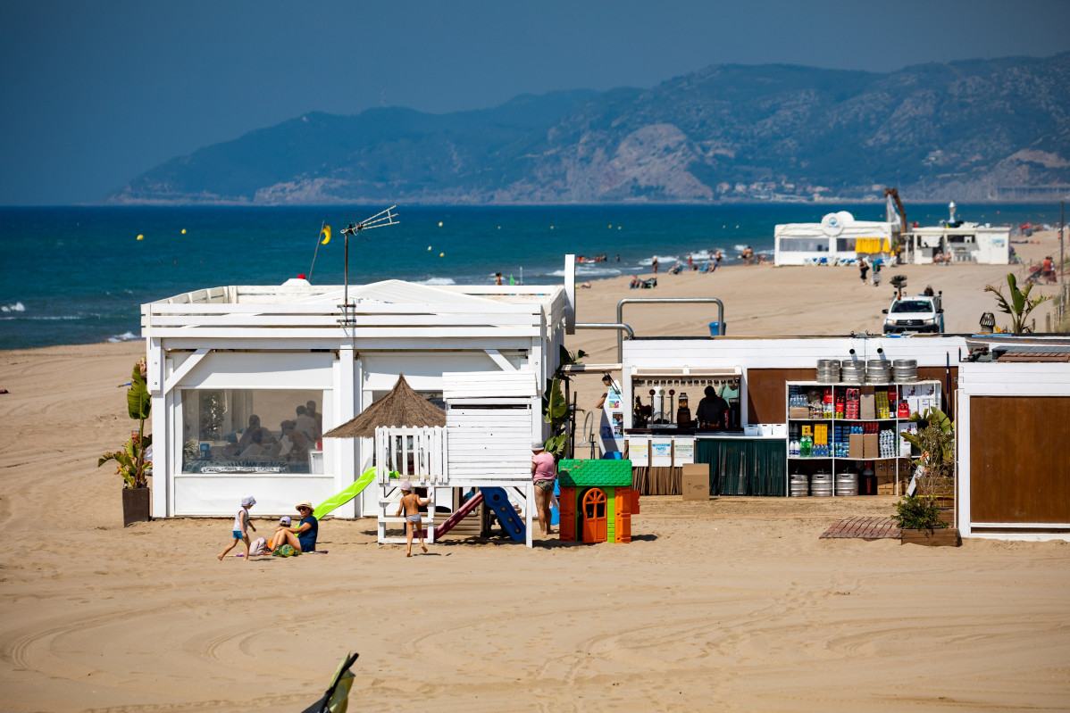
{"type": "Polygon", "coordinates": [[[866,257],[889,258],[899,239],[899,221],[855,220],[846,211],[821,222],[790,222],[775,229],[777,265],[835,265],[866,257]]]}

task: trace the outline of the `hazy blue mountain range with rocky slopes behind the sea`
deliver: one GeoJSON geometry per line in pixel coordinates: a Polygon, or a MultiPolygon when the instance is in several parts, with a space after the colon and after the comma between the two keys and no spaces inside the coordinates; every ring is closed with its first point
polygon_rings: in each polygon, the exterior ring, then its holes
{"type": "Polygon", "coordinates": [[[311,112],[173,158],[110,204],[1070,198],[1070,52],[892,73],[715,65],[649,89],[431,114],[311,112]]]}

